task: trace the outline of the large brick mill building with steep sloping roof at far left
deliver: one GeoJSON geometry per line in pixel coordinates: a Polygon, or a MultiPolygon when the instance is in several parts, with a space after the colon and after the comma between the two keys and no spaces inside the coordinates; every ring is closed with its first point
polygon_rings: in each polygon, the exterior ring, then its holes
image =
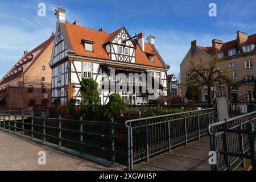
{"type": "Polygon", "coordinates": [[[0,81],[0,110],[48,106],[51,101],[49,60],[54,35],[24,55],[0,81]]]}

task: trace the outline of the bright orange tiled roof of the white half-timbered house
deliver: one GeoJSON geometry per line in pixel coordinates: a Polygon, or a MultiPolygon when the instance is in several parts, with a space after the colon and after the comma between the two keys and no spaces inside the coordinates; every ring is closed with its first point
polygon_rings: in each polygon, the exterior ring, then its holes
{"type": "MultiPolygon", "coordinates": [[[[105,49],[105,44],[110,42],[115,35],[123,28],[119,28],[118,30],[114,31],[112,34],[108,34],[106,32],[93,30],[86,27],[77,26],[75,24],[71,24],[66,22],[65,29],[67,30],[67,36],[64,36],[64,41],[68,41],[71,44],[71,48],[75,51],[75,55],[78,56],[86,56],[86,57],[93,57],[98,59],[109,59],[108,53],[105,49]],[[68,39],[68,40],[65,40],[68,39]],[[93,44],[93,52],[85,51],[84,44],[81,40],[89,40],[94,42],[93,44]]],[[[139,47],[138,43],[136,44],[136,53],[135,53],[135,60],[136,64],[141,65],[150,65],[152,67],[160,67],[165,68],[166,64],[164,63],[162,57],[160,57],[159,53],[157,52],[154,45],[150,45],[148,43],[144,43],[145,51],[143,52],[142,49],[139,47]],[[149,60],[147,56],[148,52],[152,52],[155,54],[154,62],[149,60]]]]}

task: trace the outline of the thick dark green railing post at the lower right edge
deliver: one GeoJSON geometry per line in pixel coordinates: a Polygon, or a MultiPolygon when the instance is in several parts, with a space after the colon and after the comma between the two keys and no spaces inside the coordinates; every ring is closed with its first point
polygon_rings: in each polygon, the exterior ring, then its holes
{"type": "Polygon", "coordinates": [[[255,129],[254,129],[254,123],[249,122],[247,124],[248,129],[248,138],[249,138],[249,144],[250,144],[250,155],[251,155],[251,166],[253,168],[253,171],[256,171],[256,143],[255,143],[255,129]]]}

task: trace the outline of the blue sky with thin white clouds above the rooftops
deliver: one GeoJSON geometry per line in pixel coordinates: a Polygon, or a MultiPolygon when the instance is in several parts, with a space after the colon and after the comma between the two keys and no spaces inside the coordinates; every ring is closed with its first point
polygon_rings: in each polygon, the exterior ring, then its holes
{"type": "Polygon", "coordinates": [[[155,46],[167,64],[168,73],[179,76],[179,64],[191,41],[211,46],[212,39],[236,39],[238,30],[256,33],[256,0],[183,1],[1,1],[0,2],[0,77],[22,56],[23,51],[44,42],[55,30],[54,10],[61,5],[69,22],[113,32],[125,26],[130,35],[144,32],[155,35],[155,46]],[[38,16],[38,4],[46,4],[46,17],[38,16]],[[217,5],[217,17],[208,15],[209,3],[217,5]]]}

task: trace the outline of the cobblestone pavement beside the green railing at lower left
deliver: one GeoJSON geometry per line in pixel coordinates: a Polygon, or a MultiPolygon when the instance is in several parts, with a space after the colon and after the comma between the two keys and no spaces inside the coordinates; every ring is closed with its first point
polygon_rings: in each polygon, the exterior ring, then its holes
{"type": "Polygon", "coordinates": [[[122,170],[106,167],[51,147],[0,131],[0,170],[122,170]],[[46,165],[38,164],[38,152],[46,152],[46,165]]]}

